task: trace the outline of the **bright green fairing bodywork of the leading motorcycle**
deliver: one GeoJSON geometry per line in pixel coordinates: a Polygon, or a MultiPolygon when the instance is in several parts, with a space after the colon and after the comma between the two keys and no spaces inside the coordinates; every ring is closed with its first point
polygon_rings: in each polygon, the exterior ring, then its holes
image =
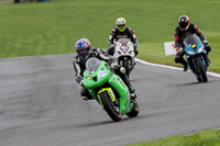
{"type": "MultiPolygon", "coordinates": [[[[113,74],[108,66],[106,66],[106,61],[102,61],[96,72],[88,74],[87,70],[84,72],[84,86],[89,90],[90,94],[96,99],[96,101],[100,103],[98,99],[98,92],[102,89],[99,89],[99,91],[95,91],[96,88],[105,85],[108,82],[113,87],[113,89],[118,92],[120,97],[116,97],[118,99],[120,104],[120,112],[121,114],[125,114],[131,112],[133,108],[133,103],[130,103],[130,93],[128,87],[124,85],[124,82],[121,80],[121,78],[113,74]],[[103,77],[98,76],[98,72],[101,70],[105,70],[107,74],[103,77]]],[[[112,88],[109,87],[109,88],[112,88]]],[[[116,96],[116,94],[114,94],[116,96]]],[[[102,104],[101,104],[102,105],[102,104]]]]}

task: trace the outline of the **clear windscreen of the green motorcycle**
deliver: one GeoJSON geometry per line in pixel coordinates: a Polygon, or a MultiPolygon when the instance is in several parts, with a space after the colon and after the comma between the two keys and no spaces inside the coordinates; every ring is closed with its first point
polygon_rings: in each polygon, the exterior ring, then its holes
{"type": "Polygon", "coordinates": [[[86,69],[88,71],[88,74],[94,74],[97,71],[97,69],[99,68],[101,61],[96,58],[96,57],[91,57],[86,61],[86,69]]]}

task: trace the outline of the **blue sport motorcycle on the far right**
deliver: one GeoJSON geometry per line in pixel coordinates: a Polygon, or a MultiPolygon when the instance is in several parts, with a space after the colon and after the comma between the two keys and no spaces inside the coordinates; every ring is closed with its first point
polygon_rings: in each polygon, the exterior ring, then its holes
{"type": "Polygon", "coordinates": [[[205,45],[201,43],[200,38],[194,34],[188,35],[184,40],[184,44],[187,63],[193,74],[197,77],[199,82],[207,82],[209,59],[207,57],[205,45]]]}

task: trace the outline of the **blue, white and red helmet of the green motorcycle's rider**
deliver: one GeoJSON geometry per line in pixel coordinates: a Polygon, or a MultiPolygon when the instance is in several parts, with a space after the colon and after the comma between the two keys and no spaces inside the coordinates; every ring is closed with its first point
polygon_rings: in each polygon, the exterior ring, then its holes
{"type": "Polygon", "coordinates": [[[90,48],[91,44],[87,38],[80,38],[76,42],[75,48],[79,57],[87,59],[91,54],[90,48]]]}

